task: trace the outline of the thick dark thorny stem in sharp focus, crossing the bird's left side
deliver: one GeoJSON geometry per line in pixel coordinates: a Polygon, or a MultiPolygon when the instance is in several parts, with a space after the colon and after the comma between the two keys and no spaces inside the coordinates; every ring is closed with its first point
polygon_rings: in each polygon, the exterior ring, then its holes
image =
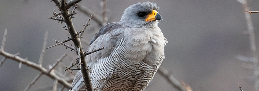
{"type": "Polygon", "coordinates": [[[84,52],[82,50],[82,45],[81,45],[81,41],[79,38],[79,34],[78,34],[78,32],[75,31],[74,25],[72,23],[72,19],[70,17],[73,14],[69,13],[67,11],[68,8],[70,8],[72,5],[75,5],[76,3],[78,3],[81,0],[71,0],[69,2],[65,2],[64,0],[62,0],[61,2],[59,2],[58,0],[53,0],[53,1],[55,2],[57,7],[59,8],[59,10],[61,12],[63,12],[62,16],[64,18],[64,21],[67,24],[68,32],[71,35],[72,41],[74,42],[75,48],[77,50],[78,61],[81,66],[81,71],[83,73],[83,79],[84,79],[86,89],[87,89],[87,91],[93,91],[93,86],[92,86],[92,83],[90,80],[89,70],[87,70],[86,59],[84,56],[84,52]]]}

